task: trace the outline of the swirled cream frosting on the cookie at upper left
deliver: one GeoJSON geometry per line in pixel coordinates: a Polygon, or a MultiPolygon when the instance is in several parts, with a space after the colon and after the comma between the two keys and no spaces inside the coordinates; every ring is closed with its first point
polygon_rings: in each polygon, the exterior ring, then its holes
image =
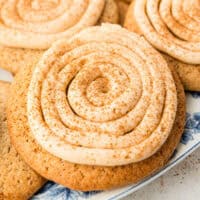
{"type": "Polygon", "coordinates": [[[0,0],[0,43],[47,49],[95,25],[104,4],[105,0],[0,0]]]}

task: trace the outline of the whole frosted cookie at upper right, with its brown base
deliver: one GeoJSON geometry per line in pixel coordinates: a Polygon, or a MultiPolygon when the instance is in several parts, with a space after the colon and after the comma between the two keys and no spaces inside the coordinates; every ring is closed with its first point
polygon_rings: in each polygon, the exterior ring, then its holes
{"type": "Polygon", "coordinates": [[[200,26],[197,1],[134,0],[125,27],[170,56],[186,90],[200,91],[200,26]],[[147,12],[146,12],[147,10],[147,12]],[[171,12],[172,10],[172,12],[171,12]]]}

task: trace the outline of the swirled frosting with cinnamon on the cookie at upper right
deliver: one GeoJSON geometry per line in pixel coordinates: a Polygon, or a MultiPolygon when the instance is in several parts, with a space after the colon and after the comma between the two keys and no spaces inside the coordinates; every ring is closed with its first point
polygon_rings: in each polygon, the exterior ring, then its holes
{"type": "Polygon", "coordinates": [[[154,47],[182,62],[200,64],[199,0],[134,0],[131,12],[154,47]]]}

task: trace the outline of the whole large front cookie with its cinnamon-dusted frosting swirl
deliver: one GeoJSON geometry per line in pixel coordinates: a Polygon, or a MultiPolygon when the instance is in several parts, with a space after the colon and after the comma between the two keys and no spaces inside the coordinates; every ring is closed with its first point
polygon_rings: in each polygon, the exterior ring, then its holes
{"type": "Polygon", "coordinates": [[[172,73],[142,37],[117,25],[84,29],[16,75],[12,142],[39,174],[71,189],[140,181],[167,163],[183,132],[185,95],[172,73]]]}

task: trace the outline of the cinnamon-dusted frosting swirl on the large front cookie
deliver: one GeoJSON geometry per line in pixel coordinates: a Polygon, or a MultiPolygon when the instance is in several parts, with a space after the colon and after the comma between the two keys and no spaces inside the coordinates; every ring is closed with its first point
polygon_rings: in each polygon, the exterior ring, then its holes
{"type": "Polygon", "coordinates": [[[160,54],[117,25],[55,43],[36,66],[27,96],[32,135],[66,161],[125,165],[168,138],[177,92],[160,54]]]}

